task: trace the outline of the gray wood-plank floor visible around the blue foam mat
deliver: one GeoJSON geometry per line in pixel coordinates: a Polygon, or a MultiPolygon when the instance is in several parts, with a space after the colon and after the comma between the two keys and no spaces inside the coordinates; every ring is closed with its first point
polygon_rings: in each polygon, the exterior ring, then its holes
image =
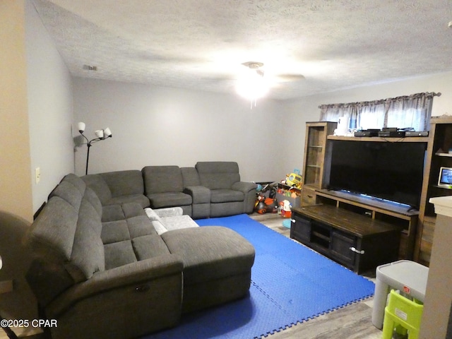
{"type": "MultiPolygon", "coordinates": [[[[251,218],[270,227],[276,232],[290,237],[290,229],[283,226],[283,218],[277,214],[259,215],[254,213],[251,218]]],[[[294,240],[295,241],[295,240],[294,240]]],[[[374,281],[375,272],[363,274],[374,281]]],[[[373,299],[351,304],[342,309],[298,323],[291,328],[268,335],[268,339],[379,339],[381,331],[371,323],[373,299]]]]}

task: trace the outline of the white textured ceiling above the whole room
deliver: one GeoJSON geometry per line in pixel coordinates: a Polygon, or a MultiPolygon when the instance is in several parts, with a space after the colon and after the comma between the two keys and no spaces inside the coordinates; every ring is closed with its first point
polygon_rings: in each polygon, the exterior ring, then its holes
{"type": "Polygon", "coordinates": [[[32,1],[73,76],[232,93],[260,61],[285,100],[452,71],[452,0],[32,1]]]}

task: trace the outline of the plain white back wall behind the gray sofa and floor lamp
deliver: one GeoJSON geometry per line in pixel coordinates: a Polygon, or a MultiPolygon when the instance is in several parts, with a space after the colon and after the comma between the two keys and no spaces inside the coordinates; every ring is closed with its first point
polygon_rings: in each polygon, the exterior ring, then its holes
{"type": "MultiPolygon", "coordinates": [[[[76,123],[85,134],[109,126],[113,137],[90,148],[89,173],[146,165],[193,167],[197,161],[237,161],[242,180],[283,179],[287,131],[283,105],[260,100],[250,109],[237,95],[74,78],[76,123]]],[[[86,146],[76,150],[85,174],[86,146]]]]}

